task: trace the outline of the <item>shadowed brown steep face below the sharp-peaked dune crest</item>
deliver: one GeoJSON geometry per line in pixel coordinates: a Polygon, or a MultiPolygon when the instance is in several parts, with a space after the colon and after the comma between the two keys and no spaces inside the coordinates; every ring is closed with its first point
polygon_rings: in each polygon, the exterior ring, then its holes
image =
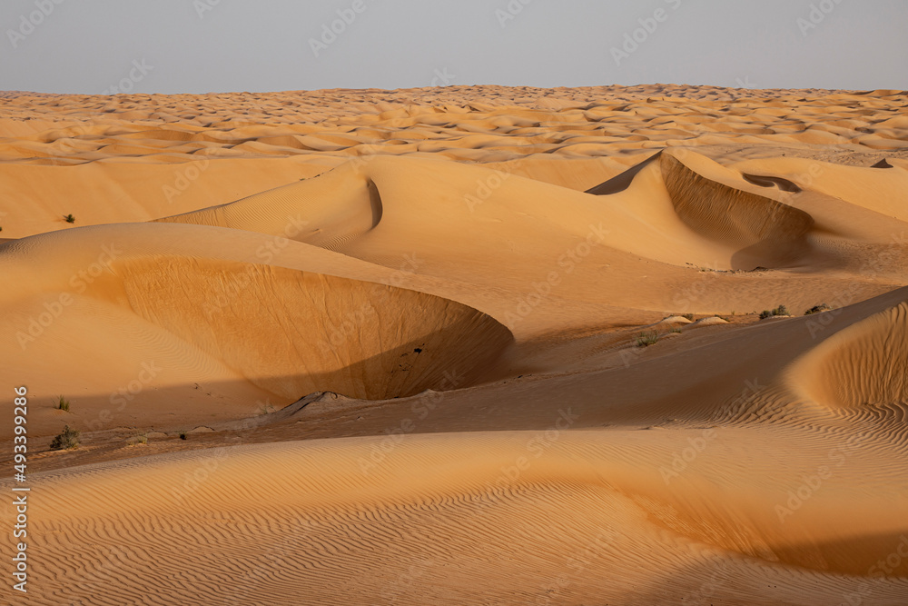
{"type": "MultiPolygon", "coordinates": [[[[791,263],[807,248],[805,236],[814,224],[813,218],[792,206],[772,198],[735,189],[718,179],[718,164],[696,158],[692,168],[673,154],[660,160],[666,188],[681,219],[697,233],[719,242],[740,246],[735,263],[739,267],[754,261],[768,266],[791,263]],[[714,164],[714,165],[710,165],[714,164]],[[704,170],[706,169],[706,170],[704,170]],[[707,173],[708,174],[708,173],[707,173]]],[[[752,269],[749,267],[747,269],[752,269]]]]}

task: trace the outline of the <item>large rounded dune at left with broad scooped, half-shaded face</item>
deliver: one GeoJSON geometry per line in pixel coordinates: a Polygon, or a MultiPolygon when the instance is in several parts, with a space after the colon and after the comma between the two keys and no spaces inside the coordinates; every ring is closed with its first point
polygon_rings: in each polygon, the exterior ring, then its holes
{"type": "MultiPolygon", "coordinates": [[[[142,402],[174,408],[158,390],[199,382],[230,385],[252,402],[465,387],[512,340],[485,313],[344,261],[306,244],[195,225],[102,226],[7,243],[0,266],[17,288],[0,296],[0,359],[11,376],[23,354],[43,360],[15,380],[70,394],[79,385],[73,414],[94,422],[123,400],[124,386],[142,416],[155,410],[142,402]]],[[[184,412],[192,416],[192,407],[184,412]]],[[[54,432],[59,421],[35,414],[32,431],[54,432]]]]}

